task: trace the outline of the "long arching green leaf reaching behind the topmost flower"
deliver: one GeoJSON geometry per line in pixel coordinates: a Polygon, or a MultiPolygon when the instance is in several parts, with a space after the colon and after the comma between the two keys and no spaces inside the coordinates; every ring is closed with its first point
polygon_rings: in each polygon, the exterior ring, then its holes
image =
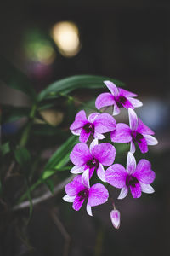
{"type": "Polygon", "coordinates": [[[124,86],[124,84],[116,79],[95,76],[95,75],[77,75],[66,79],[60,79],[53,84],[48,85],[44,90],[38,95],[38,101],[42,101],[46,96],[55,96],[59,93],[69,93],[72,90],[86,88],[86,89],[96,89],[105,88],[103,81],[110,80],[118,86],[124,86]]]}

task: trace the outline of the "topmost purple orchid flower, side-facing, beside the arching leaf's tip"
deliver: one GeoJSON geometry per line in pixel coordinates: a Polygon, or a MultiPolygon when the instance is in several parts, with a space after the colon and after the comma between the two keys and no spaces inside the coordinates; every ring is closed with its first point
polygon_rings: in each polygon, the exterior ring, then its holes
{"type": "Polygon", "coordinates": [[[103,107],[114,106],[113,115],[120,113],[120,108],[139,108],[143,104],[133,97],[137,96],[133,92],[124,90],[122,88],[116,87],[111,81],[104,81],[107,88],[111,91],[100,94],[95,102],[97,109],[103,107]]]}

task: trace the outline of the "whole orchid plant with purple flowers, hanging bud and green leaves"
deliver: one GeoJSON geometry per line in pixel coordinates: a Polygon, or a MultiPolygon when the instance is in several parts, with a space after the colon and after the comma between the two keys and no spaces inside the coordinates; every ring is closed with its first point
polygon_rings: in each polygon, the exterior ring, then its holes
{"type": "Polygon", "coordinates": [[[4,67],[14,78],[4,70],[3,83],[25,93],[29,102],[27,107],[2,105],[5,136],[0,145],[0,195],[3,206],[8,206],[4,211],[29,207],[31,216],[34,205],[65,189],[64,201],[72,203],[76,211],[86,205],[90,216],[94,207],[111,202],[108,218],[118,229],[121,214],[112,199],[111,187],[121,189],[118,199],[126,197],[128,191],[133,198],[139,198],[142,192],[154,192],[150,184],[154,182],[155,172],[144,154],[157,140],[154,131],[135,113],[142,102],[133,92],[122,89],[122,82],[94,75],[60,79],[37,93],[25,74],[8,61],[4,67]],[[97,96],[93,107],[90,102],[79,100],[78,90],[86,89],[94,94],[94,89],[99,88],[105,88],[105,92],[97,96]],[[79,108],[76,116],[75,106],[79,108]],[[128,124],[116,121],[122,108],[128,113],[128,124]],[[5,131],[6,127],[10,129],[5,131]],[[117,145],[122,148],[122,143],[128,147],[128,153],[124,154],[126,167],[117,162],[119,154],[124,153],[124,149],[121,153],[117,150],[117,145]],[[142,154],[138,163],[136,148],[142,154]],[[17,188],[14,185],[14,193],[8,188],[11,178],[20,181],[17,188]],[[4,191],[9,191],[9,195],[4,191]]]}

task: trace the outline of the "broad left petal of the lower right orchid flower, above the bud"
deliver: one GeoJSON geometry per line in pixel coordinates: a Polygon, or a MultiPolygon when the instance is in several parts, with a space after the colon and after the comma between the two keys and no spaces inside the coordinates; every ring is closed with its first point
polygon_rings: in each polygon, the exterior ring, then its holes
{"type": "Polygon", "coordinates": [[[112,186],[122,189],[126,186],[127,172],[120,164],[115,164],[105,171],[105,180],[112,186]]]}

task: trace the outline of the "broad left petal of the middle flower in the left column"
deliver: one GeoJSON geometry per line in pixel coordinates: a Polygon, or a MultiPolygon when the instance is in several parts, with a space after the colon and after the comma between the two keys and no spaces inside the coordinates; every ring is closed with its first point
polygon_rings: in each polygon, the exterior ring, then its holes
{"type": "Polygon", "coordinates": [[[70,154],[71,162],[75,166],[83,166],[91,158],[88,145],[85,143],[78,143],[70,154]]]}

